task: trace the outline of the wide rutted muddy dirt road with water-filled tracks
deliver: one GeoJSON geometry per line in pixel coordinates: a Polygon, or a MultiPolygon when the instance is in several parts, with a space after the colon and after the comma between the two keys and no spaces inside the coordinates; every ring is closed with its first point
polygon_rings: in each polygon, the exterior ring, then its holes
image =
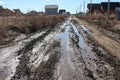
{"type": "Polygon", "coordinates": [[[69,18],[0,48],[0,80],[119,80],[120,60],[69,18]]]}

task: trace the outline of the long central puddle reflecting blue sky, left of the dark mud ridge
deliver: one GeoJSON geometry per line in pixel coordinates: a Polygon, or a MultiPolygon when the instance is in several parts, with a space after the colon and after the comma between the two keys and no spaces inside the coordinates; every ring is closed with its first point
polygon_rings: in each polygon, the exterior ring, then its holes
{"type": "Polygon", "coordinates": [[[76,61],[75,53],[70,47],[70,22],[67,21],[63,25],[63,28],[65,28],[65,31],[56,36],[62,43],[61,59],[55,71],[57,80],[84,80],[81,70],[79,70],[78,66],[74,63],[74,61],[76,61]]]}

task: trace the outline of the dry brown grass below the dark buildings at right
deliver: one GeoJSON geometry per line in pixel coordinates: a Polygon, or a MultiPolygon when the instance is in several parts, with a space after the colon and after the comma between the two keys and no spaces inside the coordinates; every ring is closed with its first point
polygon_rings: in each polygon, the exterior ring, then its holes
{"type": "Polygon", "coordinates": [[[83,19],[90,24],[95,24],[99,28],[104,28],[109,31],[113,31],[116,33],[120,32],[120,21],[116,21],[115,19],[106,19],[103,15],[96,16],[77,16],[79,19],[83,19]]]}

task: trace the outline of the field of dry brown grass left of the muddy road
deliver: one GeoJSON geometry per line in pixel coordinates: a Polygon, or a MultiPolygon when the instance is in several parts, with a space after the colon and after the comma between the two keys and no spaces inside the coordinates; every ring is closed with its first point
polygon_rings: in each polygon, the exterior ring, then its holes
{"type": "Polygon", "coordinates": [[[0,17],[0,45],[11,42],[21,33],[28,35],[54,28],[64,20],[63,15],[0,17]]]}

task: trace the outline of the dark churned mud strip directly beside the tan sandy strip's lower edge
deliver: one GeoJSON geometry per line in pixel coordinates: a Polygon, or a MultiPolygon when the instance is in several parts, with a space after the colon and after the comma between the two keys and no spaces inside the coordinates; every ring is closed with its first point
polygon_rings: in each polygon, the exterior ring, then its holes
{"type": "MultiPolygon", "coordinates": [[[[112,67],[112,71],[107,71],[106,75],[110,75],[112,74],[112,76],[114,77],[114,79],[111,79],[111,80],[119,80],[120,79],[120,60],[118,59],[118,57],[112,55],[112,53],[110,51],[107,51],[103,46],[102,48],[106,51],[106,53],[104,53],[102,50],[101,50],[101,45],[98,44],[98,42],[96,42],[93,38],[91,37],[88,37],[89,38],[89,44],[91,44],[91,41],[92,41],[92,44],[94,47],[93,47],[93,51],[96,53],[96,56],[102,60],[104,63],[108,63],[111,67],[112,67]],[[94,42],[94,43],[93,43],[94,42]]],[[[103,64],[104,64],[103,63],[103,64]]],[[[98,70],[98,72],[100,72],[98,70]]]]}

